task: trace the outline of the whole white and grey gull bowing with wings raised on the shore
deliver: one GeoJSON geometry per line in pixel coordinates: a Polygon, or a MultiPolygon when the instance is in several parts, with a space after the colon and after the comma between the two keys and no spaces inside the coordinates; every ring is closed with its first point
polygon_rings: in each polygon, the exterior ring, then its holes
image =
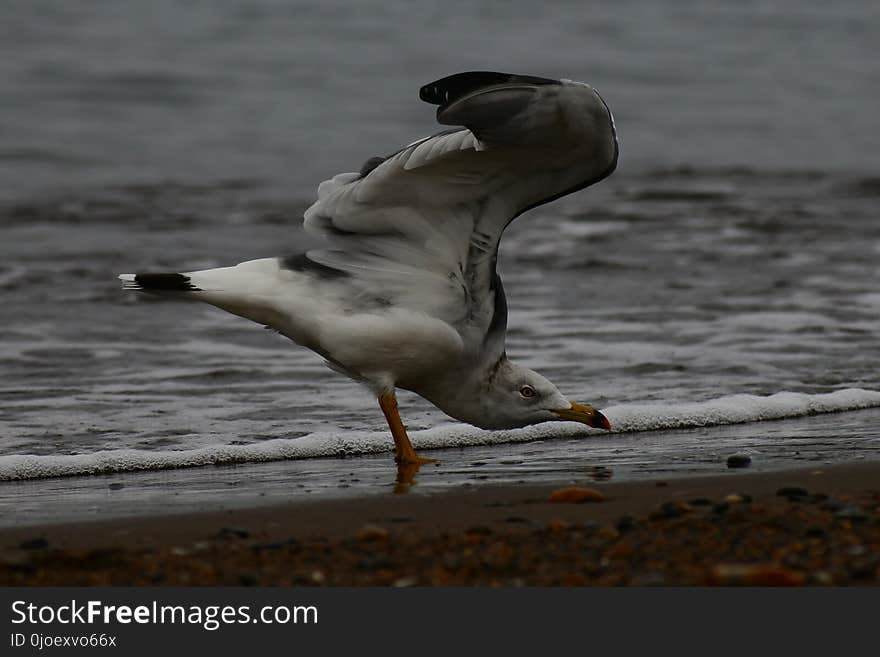
{"type": "Polygon", "coordinates": [[[611,111],[590,85],[471,71],[421,88],[453,129],[322,182],[305,230],[320,246],[183,273],[121,274],[123,287],[202,301],[272,328],[367,385],[395,460],[416,454],[395,390],[483,429],[574,421],[610,429],[505,351],[497,272],[507,225],[617,166],[611,111]]]}

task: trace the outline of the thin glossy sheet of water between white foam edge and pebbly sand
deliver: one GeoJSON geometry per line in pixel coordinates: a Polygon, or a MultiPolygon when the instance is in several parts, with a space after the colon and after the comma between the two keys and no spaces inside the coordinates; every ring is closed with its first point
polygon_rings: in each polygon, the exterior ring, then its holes
{"type": "MultiPolygon", "coordinates": [[[[880,462],[880,408],[708,429],[611,434],[429,450],[438,458],[416,475],[413,494],[464,492],[488,486],[606,485],[647,478],[742,477],[830,464],[880,462]],[[828,436],[835,436],[829,440],[828,436]],[[731,469],[731,455],[752,459],[731,469]]],[[[390,443],[390,441],[388,441],[390,443]]],[[[836,467],[836,466],[835,466],[836,467]]],[[[66,518],[203,513],[308,498],[388,497],[395,488],[391,452],[180,469],[124,471],[0,484],[0,532],[66,518]]]]}

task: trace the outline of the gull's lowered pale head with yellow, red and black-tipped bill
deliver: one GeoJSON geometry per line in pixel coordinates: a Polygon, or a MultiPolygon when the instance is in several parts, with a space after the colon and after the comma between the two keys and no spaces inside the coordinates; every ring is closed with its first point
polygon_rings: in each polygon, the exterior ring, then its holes
{"type": "Polygon", "coordinates": [[[461,418],[484,429],[513,429],[540,422],[581,422],[599,429],[611,423],[595,408],[568,401],[537,372],[502,358],[483,380],[477,417],[461,418]]]}

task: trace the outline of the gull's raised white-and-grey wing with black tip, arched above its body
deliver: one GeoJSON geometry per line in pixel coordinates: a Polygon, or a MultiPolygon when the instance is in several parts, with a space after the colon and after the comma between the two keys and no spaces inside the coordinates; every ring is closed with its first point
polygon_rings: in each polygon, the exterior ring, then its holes
{"type": "Polygon", "coordinates": [[[439,105],[441,124],[465,127],[323,182],[304,226],[329,243],[293,266],[349,274],[353,303],[422,311],[475,351],[487,340],[503,349],[501,234],[524,211],[609,175],[614,122],[590,86],[568,80],[460,73],[420,97],[439,105]]]}

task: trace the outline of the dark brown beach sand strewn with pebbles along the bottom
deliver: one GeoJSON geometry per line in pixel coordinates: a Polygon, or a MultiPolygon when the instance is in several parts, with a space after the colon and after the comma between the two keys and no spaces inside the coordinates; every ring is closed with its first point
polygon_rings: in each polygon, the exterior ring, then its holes
{"type": "Polygon", "coordinates": [[[0,530],[3,585],[878,585],[880,463],[0,530]]]}

